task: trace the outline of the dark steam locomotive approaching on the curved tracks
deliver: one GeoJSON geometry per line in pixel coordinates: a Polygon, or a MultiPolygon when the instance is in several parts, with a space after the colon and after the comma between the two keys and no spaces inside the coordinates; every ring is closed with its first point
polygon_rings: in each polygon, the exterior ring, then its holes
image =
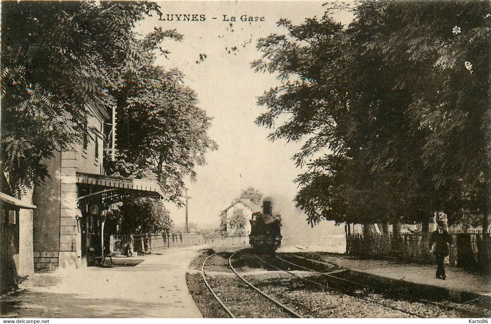
{"type": "Polygon", "coordinates": [[[273,214],[271,201],[263,201],[263,211],[252,214],[249,244],[258,252],[274,253],[281,245],[281,215],[273,214]]]}

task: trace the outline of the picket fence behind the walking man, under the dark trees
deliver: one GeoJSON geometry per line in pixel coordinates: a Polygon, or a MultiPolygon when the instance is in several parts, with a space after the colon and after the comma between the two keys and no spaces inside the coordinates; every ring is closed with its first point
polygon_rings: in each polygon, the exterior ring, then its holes
{"type": "MultiPolygon", "coordinates": [[[[463,268],[491,269],[491,230],[484,234],[481,230],[449,232],[454,245],[450,249],[449,263],[463,268]]],[[[431,233],[430,233],[431,234],[431,233]]],[[[396,257],[399,259],[427,263],[434,257],[429,253],[430,236],[415,233],[400,235],[352,234],[346,237],[348,254],[370,257],[396,257]]]]}

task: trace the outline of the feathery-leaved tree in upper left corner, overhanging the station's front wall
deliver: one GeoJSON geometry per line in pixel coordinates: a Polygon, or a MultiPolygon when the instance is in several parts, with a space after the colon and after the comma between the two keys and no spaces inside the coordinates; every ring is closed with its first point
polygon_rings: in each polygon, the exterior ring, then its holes
{"type": "Polygon", "coordinates": [[[12,1],[2,5],[1,167],[17,197],[48,176],[44,160],[87,129],[87,105],[112,107],[109,88],[132,69],[131,29],[151,2],[12,1]]]}

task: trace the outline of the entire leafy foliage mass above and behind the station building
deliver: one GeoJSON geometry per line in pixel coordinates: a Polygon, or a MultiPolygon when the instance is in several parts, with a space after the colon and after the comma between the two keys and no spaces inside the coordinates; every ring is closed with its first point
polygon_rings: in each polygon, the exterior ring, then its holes
{"type": "Polygon", "coordinates": [[[183,36],[133,31],[152,12],[159,6],[147,1],[2,4],[2,190],[20,197],[42,184],[49,176],[44,161],[56,150],[102,135],[87,128],[87,106],[116,106],[120,163],[107,171],[159,180],[177,199],[182,177],[193,178],[194,165],[216,144],[181,73],[154,66],[157,54],[169,54],[162,42],[183,36]]]}

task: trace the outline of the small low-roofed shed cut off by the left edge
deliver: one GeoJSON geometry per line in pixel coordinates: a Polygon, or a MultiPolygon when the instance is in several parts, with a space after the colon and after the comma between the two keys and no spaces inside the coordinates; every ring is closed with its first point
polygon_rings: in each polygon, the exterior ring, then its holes
{"type": "Polygon", "coordinates": [[[34,205],[0,192],[1,293],[17,288],[19,276],[34,273],[32,210],[35,208],[34,205]]]}

